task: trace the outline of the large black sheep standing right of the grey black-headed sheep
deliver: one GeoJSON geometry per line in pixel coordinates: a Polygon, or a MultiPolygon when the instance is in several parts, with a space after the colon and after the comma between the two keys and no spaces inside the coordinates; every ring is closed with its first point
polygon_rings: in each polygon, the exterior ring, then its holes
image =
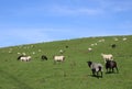
{"type": "Polygon", "coordinates": [[[106,63],[107,73],[114,73],[114,68],[117,69],[117,73],[119,73],[117,63],[114,60],[107,60],[106,63]]]}

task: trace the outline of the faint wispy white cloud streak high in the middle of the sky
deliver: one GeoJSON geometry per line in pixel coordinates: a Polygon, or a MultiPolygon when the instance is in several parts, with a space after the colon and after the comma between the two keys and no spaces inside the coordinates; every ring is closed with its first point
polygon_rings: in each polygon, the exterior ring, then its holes
{"type": "Polygon", "coordinates": [[[97,15],[103,12],[101,9],[70,8],[68,5],[54,5],[51,7],[50,11],[63,15],[97,15]]]}

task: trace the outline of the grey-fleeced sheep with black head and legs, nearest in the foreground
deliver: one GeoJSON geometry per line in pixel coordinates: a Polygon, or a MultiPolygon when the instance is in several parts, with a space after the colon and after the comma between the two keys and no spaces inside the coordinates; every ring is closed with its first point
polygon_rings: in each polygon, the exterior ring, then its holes
{"type": "Polygon", "coordinates": [[[103,66],[101,64],[92,63],[92,62],[87,62],[89,68],[92,71],[92,76],[96,76],[99,78],[99,73],[101,74],[100,77],[102,77],[102,71],[103,71],[103,66]]]}

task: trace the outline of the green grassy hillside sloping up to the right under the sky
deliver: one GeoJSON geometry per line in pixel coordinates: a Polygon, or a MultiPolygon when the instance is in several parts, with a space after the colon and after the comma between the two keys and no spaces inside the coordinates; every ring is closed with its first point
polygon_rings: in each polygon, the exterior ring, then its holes
{"type": "Polygon", "coordinates": [[[127,41],[123,37],[88,37],[0,48],[0,89],[132,89],[132,36],[125,36],[127,41]],[[111,48],[111,44],[117,47],[111,48]],[[66,60],[54,64],[53,55],[61,55],[59,49],[65,51],[66,60]],[[31,55],[32,60],[16,60],[18,53],[31,55]],[[119,74],[106,74],[103,68],[103,78],[90,76],[86,62],[105,65],[101,53],[113,54],[119,74]],[[48,60],[41,60],[43,54],[48,60]]]}

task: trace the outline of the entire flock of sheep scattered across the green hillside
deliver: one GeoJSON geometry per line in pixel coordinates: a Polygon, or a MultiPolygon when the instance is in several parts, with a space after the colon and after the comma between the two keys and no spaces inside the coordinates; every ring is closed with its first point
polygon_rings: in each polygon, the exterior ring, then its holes
{"type": "MultiPolygon", "coordinates": [[[[122,38],[123,41],[127,41],[127,37],[122,38]]],[[[118,41],[118,38],[114,38],[114,41],[118,41]]],[[[105,40],[99,40],[98,42],[105,42],[105,40]]],[[[97,43],[95,44],[91,44],[91,46],[95,46],[95,45],[98,45],[97,43]]],[[[116,44],[112,44],[111,47],[112,48],[116,48],[116,44]]],[[[31,45],[30,47],[34,47],[33,45],[31,45]]],[[[29,48],[29,47],[26,47],[29,48]]],[[[68,48],[68,46],[66,46],[66,48],[68,48]]],[[[9,53],[11,53],[12,49],[10,49],[9,53]]],[[[38,49],[38,52],[42,52],[42,49],[38,49]]],[[[88,52],[92,52],[92,48],[89,47],[88,48],[88,52]]],[[[61,56],[58,55],[55,55],[53,56],[53,59],[54,59],[54,64],[57,63],[57,62],[65,62],[65,56],[63,55],[64,51],[63,49],[59,49],[59,53],[61,53],[61,56]]],[[[35,54],[35,52],[33,52],[32,54],[35,54]]],[[[20,55],[18,57],[18,60],[21,60],[21,62],[30,62],[32,59],[31,56],[28,56],[25,53],[18,53],[18,55],[20,55]]],[[[117,69],[117,73],[118,73],[118,66],[117,66],[117,63],[113,60],[113,55],[112,54],[103,54],[101,53],[100,54],[105,60],[105,66],[106,66],[106,70],[107,73],[110,73],[112,70],[113,73],[113,68],[117,69]]],[[[41,58],[43,60],[47,60],[47,57],[45,55],[42,55],[41,58]]],[[[99,77],[99,73],[101,73],[101,77],[102,77],[102,71],[103,71],[103,66],[100,64],[100,63],[92,63],[92,62],[87,62],[89,68],[91,69],[92,71],[92,75],[96,76],[96,77],[99,77]]]]}

